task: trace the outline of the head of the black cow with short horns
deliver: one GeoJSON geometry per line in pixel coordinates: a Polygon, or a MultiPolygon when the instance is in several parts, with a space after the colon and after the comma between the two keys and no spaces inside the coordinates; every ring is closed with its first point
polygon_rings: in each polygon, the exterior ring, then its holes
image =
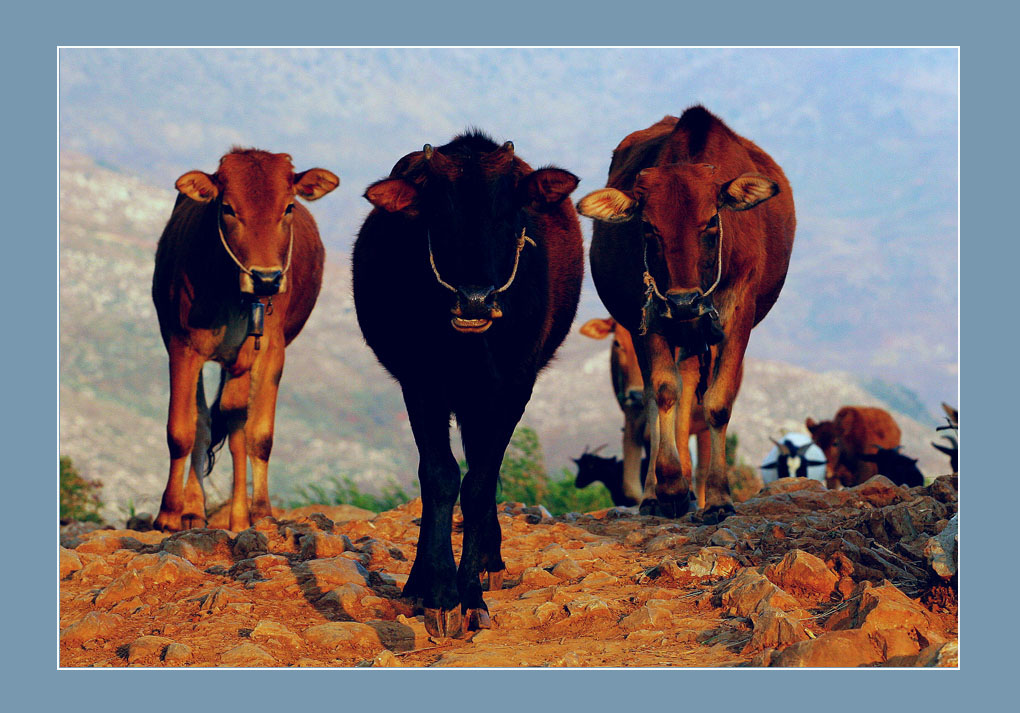
{"type": "Polygon", "coordinates": [[[525,207],[556,204],[576,187],[568,171],[526,172],[513,144],[497,147],[477,135],[425,148],[402,159],[391,177],[365,197],[401,212],[424,228],[430,268],[451,293],[450,323],[463,334],[487,332],[504,315],[504,295],[534,250],[526,236],[525,207]]]}

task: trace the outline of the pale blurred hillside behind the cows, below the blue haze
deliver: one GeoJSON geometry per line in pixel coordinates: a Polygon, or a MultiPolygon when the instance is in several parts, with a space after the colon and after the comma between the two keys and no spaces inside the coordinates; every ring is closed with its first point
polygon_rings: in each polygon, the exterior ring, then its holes
{"type": "MultiPolygon", "coordinates": [[[[81,154],[61,156],[60,452],[103,481],[108,517],[130,504],[155,512],[165,483],[167,361],[149,293],[156,240],[174,197],[81,154]]],[[[328,200],[312,206],[316,216],[328,200]]],[[[287,352],[270,466],[271,489],[280,495],[332,475],[350,474],[367,487],[415,478],[400,392],[355,320],[347,256],[334,249],[328,259],[315,311],[287,352]]],[[[608,444],[607,453],[619,453],[622,418],[608,349],[575,329],[539,379],[524,421],[538,430],[551,471],[570,466],[586,446],[608,444]]],[[[214,384],[214,371],[207,373],[214,384]]],[[[805,416],[831,416],[848,403],[883,402],[851,374],[749,360],[732,421],[741,455],[757,463],[769,437],[803,429],[805,416]]],[[[933,423],[896,416],[922,469],[946,470],[945,457],[928,445],[933,423]]],[[[211,488],[213,498],[228,493],[228,459],[211,488]]]]}

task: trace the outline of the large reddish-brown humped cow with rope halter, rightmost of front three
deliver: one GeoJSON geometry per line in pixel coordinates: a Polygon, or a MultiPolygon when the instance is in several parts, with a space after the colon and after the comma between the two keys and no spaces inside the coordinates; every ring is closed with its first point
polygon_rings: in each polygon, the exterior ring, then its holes
{"type": "Polygon", "coordinates": [[[698,402],[710,442],[698,519],[718,522],[733,512],[726,426],[744,352],[779,297],[794,246],[789,183],[764,151],[699,105],[627,136],[607,187],[578,210],[596,221],[599,296],[635,336],[652,435],[641,512],[687,511],[683,446],[698,402]]]}

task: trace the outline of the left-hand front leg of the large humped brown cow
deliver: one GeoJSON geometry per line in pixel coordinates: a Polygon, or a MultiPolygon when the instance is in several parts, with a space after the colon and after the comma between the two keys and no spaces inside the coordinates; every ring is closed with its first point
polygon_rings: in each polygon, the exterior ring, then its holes
{"type": "Polygon", "coordinates": [[[683,472],[677,451],[676,411],[680,385],[673,350],[655,334],[638,340],[634,347],[645,376],[646,413],[653,423],[653,453],[641,513],[680,517],[688,507],[691,471],[683,472]]]}

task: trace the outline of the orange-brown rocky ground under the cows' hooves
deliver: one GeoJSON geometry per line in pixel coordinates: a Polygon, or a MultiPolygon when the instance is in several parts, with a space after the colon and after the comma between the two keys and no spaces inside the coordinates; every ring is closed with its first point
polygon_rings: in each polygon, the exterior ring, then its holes
{"type": "Polygon", "coordinates": [[[502,504],[493,628],[440,641],[400,596],[420,501],[311,506],[242,532],[71,523],[60,663],[957,666],[956,482],[780,480],[719,525],[502,504]]]}

